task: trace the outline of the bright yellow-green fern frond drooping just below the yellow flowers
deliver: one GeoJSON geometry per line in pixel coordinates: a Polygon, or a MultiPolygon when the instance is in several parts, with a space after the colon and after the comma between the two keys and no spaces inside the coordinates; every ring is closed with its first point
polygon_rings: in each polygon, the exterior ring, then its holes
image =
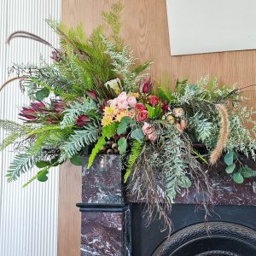
{"type": "Polygon", "coordinates": [[[102,128],[102,137],[98,139],[95,147],[91,151],[87,169],[89,169],[90,166],[93,164],[93,161],[96,158],[96,154],[98,154],[102,150],[103,146],[107,143],[106,138],[110,139],[116,134],[118,125],[119,125],[119,122],[113,122],[102,128]]]}

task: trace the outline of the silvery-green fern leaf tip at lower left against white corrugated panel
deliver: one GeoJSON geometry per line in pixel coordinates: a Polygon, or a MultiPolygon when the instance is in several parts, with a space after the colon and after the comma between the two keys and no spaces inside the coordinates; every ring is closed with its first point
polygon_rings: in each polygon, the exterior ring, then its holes
{"type": "Polygon", "coordinates": [[[31,154],[16,154],[15,159],[9,166],[9,170],[6,174],[7,181],[15,181],[20,174],[31,170],[32,166],[35,165],[37,156],[31,154]]]}

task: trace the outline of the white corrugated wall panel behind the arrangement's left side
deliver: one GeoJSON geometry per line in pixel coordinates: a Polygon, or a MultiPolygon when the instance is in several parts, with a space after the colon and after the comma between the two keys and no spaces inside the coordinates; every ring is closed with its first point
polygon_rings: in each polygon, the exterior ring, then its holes
{"type": "MultiPolygon", "coordinates": [[[[12,62],[37,62],[38,56],[49,61],[50,49],[28,39],[14,39],[5,44],[8,35],[17,30],[33,32],[57,45],[57,37],[44,22],[61,18],[61,0],[0,0],[0,83],[8,79],[12,62]]],[[[0,93],[0,119],[18,120],[20,107],[27,98],[18,83],[9,84],[0,93]]],[[[0,131],[0,138],[5,135],[0,131]]],[[[26,183],[36,170],[19,181],[7,183],[4,177],[13,152],[0,153],[0,256],[55,256],[57,253],[58,170],[49,172],[47,183],[26,183]]]]}

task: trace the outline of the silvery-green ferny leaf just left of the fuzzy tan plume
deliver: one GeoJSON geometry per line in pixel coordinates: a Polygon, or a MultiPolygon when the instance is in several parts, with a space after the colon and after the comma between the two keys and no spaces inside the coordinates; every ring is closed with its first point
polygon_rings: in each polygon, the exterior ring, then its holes
{"type": "Polygon", "coordinates": [[[189,119],[189,125],[195,130],[195,135],[201,143],[206,143],[212,136],[212,122],[205,118],[203,113],[195,113],[189,119]]]}

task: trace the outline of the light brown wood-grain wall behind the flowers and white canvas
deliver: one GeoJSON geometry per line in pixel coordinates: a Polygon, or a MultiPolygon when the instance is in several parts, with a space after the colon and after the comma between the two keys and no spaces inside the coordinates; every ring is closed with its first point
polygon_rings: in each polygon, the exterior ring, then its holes
{"type": "MultiPolygon", "coordinates": [[[[167,0],[170,1],[170,0],[167,0]]],[[[166,0],[123,0],[123,27],[122,35],[125,44],[134,49],[138,62],[151,60],[154,65],[151,75],[154,79],[167,77],[174,81],[189,77],[191,82],[200,79],[201,76],[217,76],[220,84],[238,83],[241,87],[248,84],[256,84],[256,51],[223,52],[204,55],[171,56],[169,48],[169,34],[166,17],[166,0]]],[[[85,32],[91,30],[102,22],[101,12],[109,9],[114,0],[62,0],[62,20],[67,26],[76,26],[79,22],[84,25],[85,32]]],[[[193,17],[192,17],[193,18],[193,17]]],[[[171,32],[172,33],[172,32],[171,32]]],[[[172,37],[172,34],[171,34],[172,37]]],[[[218,37],[218,35],[212,35],[218,37]]],[[[204,35],[201,36],[204,39],[204,35]]],[[[189,40],[189,38],[188,38],[189,40]]],[[[256,46],[256,45],[255,45],[256,46]]],[[[251,101],[249,107],[255,105],[255,88],[250,89],[247,95],[251,101]]],[[[80,185],[79,176],[68,177],[67,173],[73,172],[72,168],[61,173],[60,189],[73,189],[80,185]],[[67,182],[68,187],[63,188],[67,182]]],[[[79,193],[79,189],[77,190],[79,193]]],[[[64,192],[65,195],[66,192],[64,192]]],[[[60,191],[60,200],[62,198],[60,191]]],[[[75,195],[78,197],[79,195],[75,195]]],[[[73,206],[74,207],[74,206],[73,206]]],[[[61,209],[60,209],[61,210],[61,209]]],[[[61,219],[59,223],[66,222],[67,229],[71,223],[67,219],[61,219]]],[[[78,224],[80,219],[77,219],[78,224]]],[[[73,236],[77,236],[79,230],[74,230],[73,236]]],[[[66,243],[67,241],[63,241],[66,243]]],[[[69,241],[68,246],[74,246],[78,241],[69,241]]],[[[61,241],[59,243],[61,245],[61,241]]],[[[62,256],[64,254],[59,254],[62,256]]],[[[67,255],[67,254],[65,254],[67,255]]],[[[74,255],[74,254],[70,254],[74,255]]],[[[79,254],[78,254],[79,255],[79,254]]]]}

